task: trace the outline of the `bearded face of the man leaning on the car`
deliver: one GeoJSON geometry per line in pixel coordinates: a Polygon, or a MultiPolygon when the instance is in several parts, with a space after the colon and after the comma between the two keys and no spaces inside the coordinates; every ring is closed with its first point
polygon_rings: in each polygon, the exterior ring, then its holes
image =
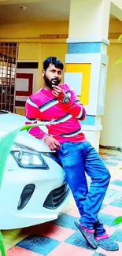
{"type": "Polygon", "coordinates": [[[58,85],[61,82],[62,70],[56,68],[50,64],[46,71],[43,70],[43,79],[45,84],[50,89],[53,89],[53,85],[58,85]]]}

